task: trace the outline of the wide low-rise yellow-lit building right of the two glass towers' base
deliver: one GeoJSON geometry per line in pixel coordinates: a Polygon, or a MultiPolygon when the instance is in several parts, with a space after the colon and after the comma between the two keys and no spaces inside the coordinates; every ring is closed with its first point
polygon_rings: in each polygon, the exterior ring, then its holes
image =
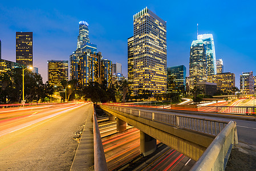
{"type": "Polygon", "coordinates": [[[232,94],[235,87],[235,74],[230,72],[219,73],[210,76],[210,80],[217,84],[217,90],[224,93],[232,94]]]}

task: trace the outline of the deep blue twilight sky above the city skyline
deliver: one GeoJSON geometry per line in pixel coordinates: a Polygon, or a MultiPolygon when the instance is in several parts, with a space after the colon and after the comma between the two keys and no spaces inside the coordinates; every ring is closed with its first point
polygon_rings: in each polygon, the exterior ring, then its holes
{"type": "Polygon", "coordinates": [[[78,22],[89,23],[90,42],[104,59],[122,64],[127,77],[127,38],[133,14],[144,7],[167,22],[167,66],[189,71],[190,44],[199,34],[213,34],[216,59],[224,72],[256,75],[255,1],[1,1],[2,59],[15,62],[15,32],[33,32],[34,66],[47,81],[47,60],[69,60],[76,49],[78,22]]]}

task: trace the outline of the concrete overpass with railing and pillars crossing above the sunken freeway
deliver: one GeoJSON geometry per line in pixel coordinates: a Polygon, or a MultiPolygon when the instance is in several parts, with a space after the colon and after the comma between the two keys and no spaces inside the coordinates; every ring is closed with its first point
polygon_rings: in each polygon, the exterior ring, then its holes
{"type": "Polygon", "coordinates": [[[140,129],[140,150],[144,156],[156,149],[156,140],[197,161],[192,170],[224,170],[234,144],[238,143],[234,121],[172,115],[152,109],[100,105],[117,117],[117,132],[126,125],[140,129]]]}

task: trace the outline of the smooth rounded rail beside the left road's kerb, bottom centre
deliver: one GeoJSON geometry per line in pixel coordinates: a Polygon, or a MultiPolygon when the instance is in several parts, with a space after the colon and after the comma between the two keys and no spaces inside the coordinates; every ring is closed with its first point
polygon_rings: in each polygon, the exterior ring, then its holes
{"type": "Polygon", "coordinates": [[[94,109],[94,170],[105,171],[108,170],[107,162],[103,145],[101,142],[99,126],[97,124],[97,117],[94,109]]]}

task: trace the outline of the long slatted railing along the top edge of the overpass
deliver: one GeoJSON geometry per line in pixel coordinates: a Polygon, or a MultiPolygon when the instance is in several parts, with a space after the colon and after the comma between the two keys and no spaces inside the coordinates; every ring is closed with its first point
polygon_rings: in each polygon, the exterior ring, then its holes
{"type": "Polygon", "coordinates": [[[227,121],[217,119],[205,119],[204,117],[183,116],[178,114],[173,115],[161,112],[148,112],[143,109],[131,109],[107,104],[103,105],[109,109],[128,113],[129,115],[143,117],[152,121],[158,121],[160,123],[173,125],[174,127],[185,128],[213,136],[217,136],[218,133],[220,133],[228,123],[227,121]]]}

